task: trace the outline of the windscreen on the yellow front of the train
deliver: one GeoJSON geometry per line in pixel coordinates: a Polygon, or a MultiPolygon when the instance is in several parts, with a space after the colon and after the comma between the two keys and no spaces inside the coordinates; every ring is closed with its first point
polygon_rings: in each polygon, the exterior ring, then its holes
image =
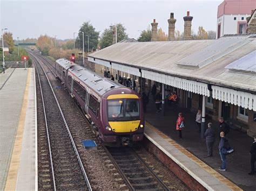
{"type": "Polygon", "coordinates": [[[138,99],[114,99],[107,101],[107,116],[109,121],[139,120],[138,99]]]}

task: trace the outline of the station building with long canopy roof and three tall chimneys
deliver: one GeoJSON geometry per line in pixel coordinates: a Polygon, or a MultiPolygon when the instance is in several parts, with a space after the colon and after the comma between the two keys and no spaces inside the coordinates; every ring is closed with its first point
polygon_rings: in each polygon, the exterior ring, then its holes
{"type": "Polygon", "coordinates": [[[256,135],[256,34],[188,40],[192,18],[189,12],[184,17],[185,40],[171,40],[175,27],[169,22],[170,41],[154,41],[154,20],[151,42],[117,43],[88,55],[88,61],[97,73],[132,79],[145,93],[156,84],[163,100],[175,91],[179,107],[200,107],[203,117],[224,117],[232,128],[256,135]]]}

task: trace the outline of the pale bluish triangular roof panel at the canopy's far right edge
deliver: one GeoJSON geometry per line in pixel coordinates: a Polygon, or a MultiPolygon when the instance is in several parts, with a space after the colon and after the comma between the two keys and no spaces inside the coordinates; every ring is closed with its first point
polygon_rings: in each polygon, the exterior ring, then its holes
{"type": "Polygon", "coordinates": [[[225,68],[233,70],[242,70],[244,72],[256,72],[256,50],[242,58],[235,60],[225,68]]]}

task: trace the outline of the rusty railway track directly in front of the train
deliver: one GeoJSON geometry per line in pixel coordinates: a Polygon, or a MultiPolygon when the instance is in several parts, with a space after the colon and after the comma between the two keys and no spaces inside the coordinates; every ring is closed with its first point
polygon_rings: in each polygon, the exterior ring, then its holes
{"type": "Polygon", "coordinates": [[[152,168],[130,147],[104,147],[130,190],[170,190],[152,168]]]}

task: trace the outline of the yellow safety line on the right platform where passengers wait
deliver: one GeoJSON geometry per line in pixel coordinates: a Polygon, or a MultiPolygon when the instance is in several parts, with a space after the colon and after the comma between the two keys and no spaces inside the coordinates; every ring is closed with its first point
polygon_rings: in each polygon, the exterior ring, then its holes
{"type": "Polygon", "coordinates": [[[176,147],[179,151],[184,153],[188,158],[192,159],[194,162],[196,162],[201,168],[205,169],[208,173],[213,175],[215,178],[217,178],[219,181],[223,182],[227,187],[229,187],[232,190],[242,190],[240,187],[235,185],[231,180],[228,180],[225,176],[221,175],[217,171],[215,171],[212,167],[208,166],[205,162],[201,161],[199,158],[197,158],[195,155],[193,155],[191,152],[187,151],[183,146],[179,145],[176,141],[171,139],[170,137],[166,136],[163,132],[159,131],[157,128],[155,128],[153,125],[151,125],[149,122],[145,122],[146,127],[150,128],[154,132],[158,133],[160,137],[167,140],[172,146],[176,147]]]}

